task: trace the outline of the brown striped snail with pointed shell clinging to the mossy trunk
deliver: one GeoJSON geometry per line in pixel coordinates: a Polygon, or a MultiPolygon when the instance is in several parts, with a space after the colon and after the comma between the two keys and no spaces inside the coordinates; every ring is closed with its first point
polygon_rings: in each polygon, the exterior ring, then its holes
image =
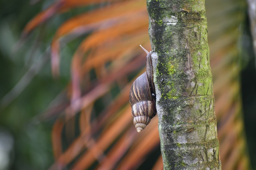
{"type": "Polygon", "coordinates": [[[132,107],[133,123],[137,132],[146,128],[156,115],[156,90],[153,82],[153,66],[151,51],[146,52],[146,72],[141,74],[130,89],[130,105],[132,107]]]}

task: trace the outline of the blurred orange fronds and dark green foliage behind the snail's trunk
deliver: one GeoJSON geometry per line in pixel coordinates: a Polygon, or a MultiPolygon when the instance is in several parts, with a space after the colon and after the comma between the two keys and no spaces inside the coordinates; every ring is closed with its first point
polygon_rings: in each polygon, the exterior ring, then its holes
{"type": "MultiPolygon", "coordinates": [[[[256,169],[256,69],[245,0],[206,0],[223,170],[256,169]]],[[[0,170],[161,170],[158,118],[128,95],[150,51],[145,0],[0,1],[0,170]]]]}

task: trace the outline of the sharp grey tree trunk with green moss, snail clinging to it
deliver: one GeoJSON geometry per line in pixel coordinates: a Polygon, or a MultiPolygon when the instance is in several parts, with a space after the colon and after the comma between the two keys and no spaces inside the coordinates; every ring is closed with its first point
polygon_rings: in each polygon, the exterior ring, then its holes
{"type": "Polygon", "coordinates": [[[204,0],[147,8],[164,169],[221,169],[204,0]]]}

